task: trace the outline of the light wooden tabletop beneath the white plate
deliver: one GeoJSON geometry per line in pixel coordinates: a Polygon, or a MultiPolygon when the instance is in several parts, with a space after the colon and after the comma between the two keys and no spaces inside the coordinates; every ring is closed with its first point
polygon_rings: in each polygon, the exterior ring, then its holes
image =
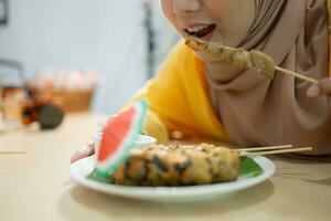
{"type": "Polygon", "coordinates": [[[0,134],[0,220],[331,220],[331,165],[273,158],[276,175],[226,199],[166,204],[106,196],[75,185],[70,157],[105,117],[77,114],[56,130],[0,134]]]}

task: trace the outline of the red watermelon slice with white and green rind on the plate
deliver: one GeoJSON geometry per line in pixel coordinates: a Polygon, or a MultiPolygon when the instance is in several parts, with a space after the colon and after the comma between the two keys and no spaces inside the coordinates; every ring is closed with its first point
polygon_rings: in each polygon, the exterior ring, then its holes
{"type": "Polygon", "coordinates": [[[129,150],[135,148],[141,133],[146,112],[147,103],[141,101],[109,119],[96,152],[99,175],[109,177],[128,159],[129,150]]]}

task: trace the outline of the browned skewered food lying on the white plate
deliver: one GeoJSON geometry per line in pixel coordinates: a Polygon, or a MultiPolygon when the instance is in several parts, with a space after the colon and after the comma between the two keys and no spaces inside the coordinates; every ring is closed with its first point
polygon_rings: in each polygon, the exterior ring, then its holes
{"type": "Polygon", "coordinates": [[[111,181],[124,186],[195,186],[235,180],[239,156],[213,145],[154,145],[131,150],[111,181]]]}

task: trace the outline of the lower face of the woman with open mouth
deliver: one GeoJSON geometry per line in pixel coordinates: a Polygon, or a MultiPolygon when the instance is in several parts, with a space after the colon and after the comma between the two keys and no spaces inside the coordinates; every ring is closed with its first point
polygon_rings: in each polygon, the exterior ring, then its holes
{"type": "Polygon", "coordinates": [[[180,35],[237,46],[255,18],[255,0],[160,0],[180,35]]]}

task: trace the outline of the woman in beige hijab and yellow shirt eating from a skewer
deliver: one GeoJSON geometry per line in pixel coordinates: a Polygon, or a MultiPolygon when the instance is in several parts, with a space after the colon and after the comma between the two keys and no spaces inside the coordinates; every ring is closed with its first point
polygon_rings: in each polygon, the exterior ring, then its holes
{"type": "MultiPolygon", "coordinates": [[[[146,98],[145,131],[160,143],[169,133],[241,146],[312,146],[331,154],[327,0],[160,0],[167,20],[184,39],[194,35],[229,46],[256,49],[285,69],[320,80],[318,85],[194,53],[183,42],[134,101],[146,98]]],[[[93,145],[74,155],[90,155],[93,145]],[[84,151],[85,150],[85,151],[84,151]]]]}

